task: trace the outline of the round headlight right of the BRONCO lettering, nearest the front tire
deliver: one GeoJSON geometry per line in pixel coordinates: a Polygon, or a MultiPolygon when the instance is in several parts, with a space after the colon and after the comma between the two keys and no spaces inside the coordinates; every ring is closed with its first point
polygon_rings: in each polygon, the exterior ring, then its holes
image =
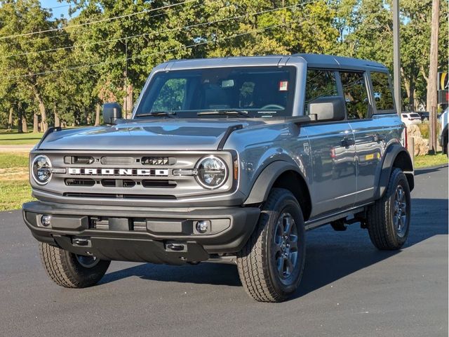
{"type": "Polygon", "coordinates": [[[218,188],[226,182],[227,166],[222,159],[208,156],[201,158],[196,164],[196,180],[206,188],[218,188]]]}

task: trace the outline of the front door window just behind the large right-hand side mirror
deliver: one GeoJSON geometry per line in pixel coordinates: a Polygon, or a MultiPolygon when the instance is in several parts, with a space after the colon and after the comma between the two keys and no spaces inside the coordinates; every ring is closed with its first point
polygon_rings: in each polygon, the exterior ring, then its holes
{"type": "Polygon", "coordinates": [[[307,70],[305,111],[308,103],[320,97],[337,96],[335,72],[330,70],[307,70]]]}

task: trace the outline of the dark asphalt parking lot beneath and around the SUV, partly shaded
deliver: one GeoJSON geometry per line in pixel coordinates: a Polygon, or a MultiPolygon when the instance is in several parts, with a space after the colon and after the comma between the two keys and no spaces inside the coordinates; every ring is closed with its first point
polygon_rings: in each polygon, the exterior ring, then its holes
{"type": "Polygon", "coordinates": [[[98,286],[46,276],[20,211],[0,213],[0,336],[448,336],[448,167],[417,171],[410,237],[307,233],[300,291],[256,303],[236,267],[112,263],[98,286]]]}

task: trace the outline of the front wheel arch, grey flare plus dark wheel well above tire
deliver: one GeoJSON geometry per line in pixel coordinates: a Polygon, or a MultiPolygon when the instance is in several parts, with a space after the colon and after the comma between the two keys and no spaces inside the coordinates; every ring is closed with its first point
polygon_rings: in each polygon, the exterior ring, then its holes
{"type": "Polygon", "coordinates": [[[244,205],[262,204],[267,200],[273,187],[285,188],[292,192],[301,206],[304,220],[311,214],[309,187],[297,166],[286,161],[274,161],[267,165],[255,180],[244,205]]]}

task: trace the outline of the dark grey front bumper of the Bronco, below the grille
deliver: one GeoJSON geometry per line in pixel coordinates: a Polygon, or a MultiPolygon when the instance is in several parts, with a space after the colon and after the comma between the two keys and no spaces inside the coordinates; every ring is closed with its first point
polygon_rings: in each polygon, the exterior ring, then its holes
{"type": "Polygon", "coordinates": [[[182,264],[207,260],[210,254],[236,253],[252,234],[260,209],[142,209],[46,204],[22,206],[23,218],[40,242],[104,260],[182,264]],[[69,208],[67,208],[69,207],[69,208]],[[41,224],[43,215],[51,225],[41,224]],[[196,222],[208,221],[208,231],[196,222]]]}

